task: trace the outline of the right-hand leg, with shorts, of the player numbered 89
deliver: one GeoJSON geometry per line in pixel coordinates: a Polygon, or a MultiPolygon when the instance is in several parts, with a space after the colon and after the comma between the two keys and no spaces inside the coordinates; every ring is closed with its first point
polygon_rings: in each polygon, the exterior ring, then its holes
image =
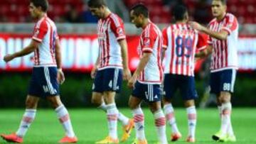
{"type": "Polygon", "coordinates": [[[187,142],[196,141],[196,106],[194,99],[198,97],[194,77],[181,76],[181,95],[188,116],[188,138],[187,142]]]}

